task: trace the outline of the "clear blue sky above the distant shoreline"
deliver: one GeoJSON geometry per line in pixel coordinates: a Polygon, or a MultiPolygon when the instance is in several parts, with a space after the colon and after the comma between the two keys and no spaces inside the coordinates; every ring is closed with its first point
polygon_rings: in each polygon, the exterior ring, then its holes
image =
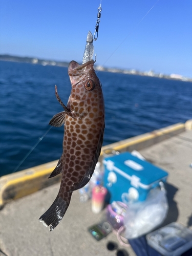
{"type": "MultiPolygon", "coordinates": [[[[0,0],[0,54],[81,62],[99,4],[100,0],[0,0]]],[[[101,4],[94,42],[97,65],[192,77],[192,0],[101,4]]]]}

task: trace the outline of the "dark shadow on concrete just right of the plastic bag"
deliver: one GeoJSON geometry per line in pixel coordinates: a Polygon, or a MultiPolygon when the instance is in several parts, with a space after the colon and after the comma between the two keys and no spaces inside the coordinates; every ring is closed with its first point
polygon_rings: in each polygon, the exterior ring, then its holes
{"type": "Polygon", "coordinates": [[[168,212],[167,212],[167,217],[161,226],[165,226],[169,223],[177,221],[178,216],[179,216],[177,203],[174,201],[174,197],[178,191],[178,188],[169,183],[166,183],[165,188],[167,191],[167,200],[168,200],[169,208],[168,208],[168,212]]]}

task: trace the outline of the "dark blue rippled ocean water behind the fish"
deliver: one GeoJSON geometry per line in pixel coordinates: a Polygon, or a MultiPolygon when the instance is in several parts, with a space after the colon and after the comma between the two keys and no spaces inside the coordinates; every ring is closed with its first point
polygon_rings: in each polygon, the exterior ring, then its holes
{"type": "MultiPolygon", "coordinates": [[[[105,100],[103,145],[192,118],[191,82],[97,75],[105,100]]],[[[0,176],[13,173],[38,142],[17,171],[60,158],[63,126],[48,132],[52,116],[63,111],[55,98],[55,84],[67,104],[71,91],[67,68],[0,61],[0,176]]]]}

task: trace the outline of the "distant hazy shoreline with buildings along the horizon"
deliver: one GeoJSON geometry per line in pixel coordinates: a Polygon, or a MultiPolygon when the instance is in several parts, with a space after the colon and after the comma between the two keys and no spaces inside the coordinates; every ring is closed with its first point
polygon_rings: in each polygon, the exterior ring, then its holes
{"type": "MultiPolygon", "coordinates": [[[[68,67],[69,66],[69,62],[67,62],[67,61],[45,60],[45,59],[38,59],[38,58],[32,58],[32,57],[19,57],[19,56],[13,56],[13,55],[9,55],[9,54],[0,54],[0,60],[31,63],[34,65],[38,64],[38,65],[42,65],[42,66],[57,66],[57,67],[68,67]]],[[[140,72],[135,69],[126,70],[126,69],[116,69],[116,68],[104,68],[102,66],[95,66],[95,70],[103,71],[103,72],[111,72],[111,73],[151,76],[151,77],[192,82],[192,78],[184,77],[182,75],[177,75],[177,74],[170,74],[170,75],[164,75],[162,73],[156,74],[152,70],[146,71],[146,72],[140,72]]]]}

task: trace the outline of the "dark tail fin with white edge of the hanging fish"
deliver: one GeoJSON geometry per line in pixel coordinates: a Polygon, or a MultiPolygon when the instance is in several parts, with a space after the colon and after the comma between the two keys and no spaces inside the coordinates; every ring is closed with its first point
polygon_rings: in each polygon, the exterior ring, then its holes
{"type": "Polygon", "coordinates": [[[52,231],[59,224],[67,211],[72,193],[67,194],[68,196],[64,199],[58,195],[50,208],[39,218],[39,221],[42,222],[46,227],[51,225],[50,231],[52,231]]]}

